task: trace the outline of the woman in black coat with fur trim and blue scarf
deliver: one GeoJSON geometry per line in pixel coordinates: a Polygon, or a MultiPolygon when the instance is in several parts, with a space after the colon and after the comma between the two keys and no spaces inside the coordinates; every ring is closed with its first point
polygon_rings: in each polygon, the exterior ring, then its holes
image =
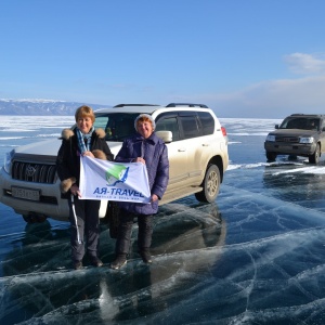
{"type": "Polygon", "coordinates": [[[82,269],[84,242],[90,262],[102,266],[98,257],[100,236],[100,200],[80,199],[80,156],[113,160],[113,154],[105,141],[105,131],[94,129],[94,113],[89,106],[80,106],[75,114],[76,128],[62,131],[62,144],[57,153],[56,167],[61,180],[62,197],[68,199],[70,221],[72,259],[75,270],[82,269]]]}

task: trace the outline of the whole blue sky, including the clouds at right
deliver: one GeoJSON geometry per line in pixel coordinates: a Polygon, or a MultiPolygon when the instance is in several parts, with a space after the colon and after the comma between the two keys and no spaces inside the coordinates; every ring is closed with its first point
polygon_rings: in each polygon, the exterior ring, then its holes
{"type": "Polygon", "coordinates": [[[325,114],[324,0],[1,0],[0,99],[325,114]]]}

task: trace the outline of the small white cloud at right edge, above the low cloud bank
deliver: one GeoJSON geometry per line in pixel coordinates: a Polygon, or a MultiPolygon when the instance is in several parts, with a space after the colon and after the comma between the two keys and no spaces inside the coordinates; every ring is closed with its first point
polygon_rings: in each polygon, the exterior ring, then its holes
{"type": "Polygon", "coordinates": [[[292,53],[284,56],[289,69],[295,74],[322,74],[325,72],[325,60],[306,53],[292,53]]]}

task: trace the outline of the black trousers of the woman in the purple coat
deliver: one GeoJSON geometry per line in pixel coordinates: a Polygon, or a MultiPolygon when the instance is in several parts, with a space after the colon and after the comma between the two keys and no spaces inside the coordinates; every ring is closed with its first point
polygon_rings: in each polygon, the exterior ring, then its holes
{"type": "Polygon", "coordinates": [[[132,225],[134,218],[138,218],[138,248],[139,251],[148,251],[153,236],[153,214],[135,214],[127,210],[119,211],[119,225],[116,239],[116,255],[128,255],[131,243],[132,225]]]}

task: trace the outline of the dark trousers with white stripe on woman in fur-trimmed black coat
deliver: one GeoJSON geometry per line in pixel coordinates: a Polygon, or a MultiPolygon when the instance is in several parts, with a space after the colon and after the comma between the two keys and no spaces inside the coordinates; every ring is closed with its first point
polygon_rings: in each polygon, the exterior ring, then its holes
{"type": "Polygon", "coordinates": [[[79,199],[74,196],[68,199],[70,221],[72,259],[81,261],[84,256],[84,245],[89,257],[96,257],[100,239],[100,200],[79,199]]]}

